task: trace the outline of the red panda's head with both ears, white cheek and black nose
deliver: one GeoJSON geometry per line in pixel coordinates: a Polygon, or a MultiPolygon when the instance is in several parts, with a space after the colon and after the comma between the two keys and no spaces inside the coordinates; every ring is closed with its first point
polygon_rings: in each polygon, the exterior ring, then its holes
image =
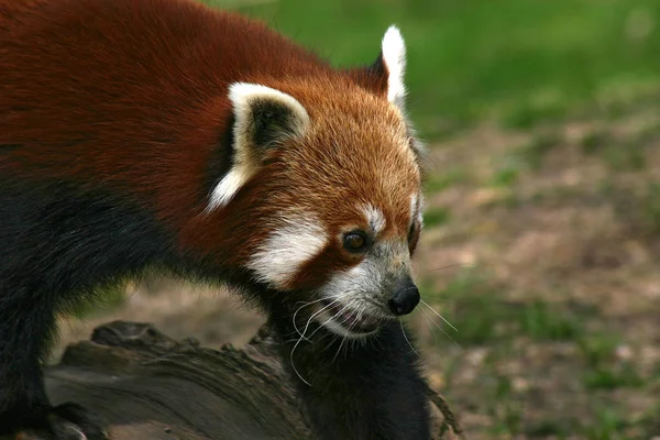
{"type": "Polygon", "coordinates": [[[419,301],[410,256],[420,151],[404,114],[404,67],[393,26],[367,69],[229,88],[232,167],[207,211],[233,219],[249,244],[237,242],[234,261],[272,288],[306,293],[304,315],[344,337],[419,301]]]}

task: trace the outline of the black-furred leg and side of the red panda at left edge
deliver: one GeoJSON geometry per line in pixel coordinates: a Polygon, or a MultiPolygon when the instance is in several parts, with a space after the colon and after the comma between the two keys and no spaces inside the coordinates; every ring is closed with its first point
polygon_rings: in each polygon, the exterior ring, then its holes
{"type": "Polygon", "coordinates": [[[0,180],[0,432],[69,438],[74,424],[88,439],[102,439],[82,408],[53,408],[45,395],[41,366],[56,312],[139,273],[167,246],[146,213],[106,195],[62,183],[0,180]]]}

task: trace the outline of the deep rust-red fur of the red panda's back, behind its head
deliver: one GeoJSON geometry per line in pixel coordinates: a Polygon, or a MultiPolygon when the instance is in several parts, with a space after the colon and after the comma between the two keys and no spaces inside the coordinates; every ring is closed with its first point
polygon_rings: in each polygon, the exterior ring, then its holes
{"type": "Polygon", "coordinates": [[[230,82],[327,69],[263,24],[188,0],[0,0],[0,165],[154,175],[205,122],[222,131],[230,82]]]}

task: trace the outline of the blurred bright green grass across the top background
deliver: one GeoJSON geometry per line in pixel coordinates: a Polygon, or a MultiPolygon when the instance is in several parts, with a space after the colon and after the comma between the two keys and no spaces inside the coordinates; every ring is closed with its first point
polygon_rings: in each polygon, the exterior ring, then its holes
{"type": "Polygon", "coordinates": [[[410,108],[430,138],[448,122],[528,128],[594,99],[629,100],[660,73],[654,0],[207,2],[265,19],[339,66],[371,63],[398,24],[410,108]]]}

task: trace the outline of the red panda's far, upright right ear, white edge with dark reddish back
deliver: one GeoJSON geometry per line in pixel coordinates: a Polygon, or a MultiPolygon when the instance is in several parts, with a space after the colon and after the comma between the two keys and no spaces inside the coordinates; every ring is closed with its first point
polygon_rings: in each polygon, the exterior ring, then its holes
{"type": "Polygon", "coordinates": [[[406,44],[395,25],[389,26],[381,44],[378,58],[370,66],[349,70],[349,76],[361,87],[387,97],[402,110],[405,107],[406,44]]]}

